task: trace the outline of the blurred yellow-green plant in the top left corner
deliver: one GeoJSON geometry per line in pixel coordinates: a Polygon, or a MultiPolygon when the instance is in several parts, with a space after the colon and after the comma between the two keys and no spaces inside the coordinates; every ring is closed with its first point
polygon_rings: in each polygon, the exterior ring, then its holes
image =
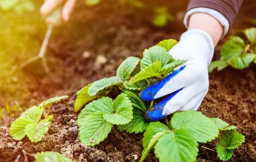
{"type": "Polygon", "coordinates": [[[1,0],[0,9],[2,11],[13,10],[16,13],[23,13],[24,11],[34,11],[35,6],[32,0],[1,0]]]}

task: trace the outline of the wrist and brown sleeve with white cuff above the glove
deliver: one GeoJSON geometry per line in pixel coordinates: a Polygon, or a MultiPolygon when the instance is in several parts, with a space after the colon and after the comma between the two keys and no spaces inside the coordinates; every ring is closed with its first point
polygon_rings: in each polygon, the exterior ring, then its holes
{"type": "Polygon", "coordinates": [[[184,24],[207,32],[216,46],[234,22],[243,0],[190,0],[184,24]]]}

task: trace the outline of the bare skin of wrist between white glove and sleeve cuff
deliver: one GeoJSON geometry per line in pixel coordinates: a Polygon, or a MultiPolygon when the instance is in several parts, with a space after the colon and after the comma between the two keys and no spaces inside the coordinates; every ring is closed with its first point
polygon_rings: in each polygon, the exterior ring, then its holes
{"type": "Polygon", "coordinates": [[[194,13],[189,18],[188,30],[201,29],[213,39],[214,46],[219,42],[223,27],[217,19],[206,13],[194,13]]]}

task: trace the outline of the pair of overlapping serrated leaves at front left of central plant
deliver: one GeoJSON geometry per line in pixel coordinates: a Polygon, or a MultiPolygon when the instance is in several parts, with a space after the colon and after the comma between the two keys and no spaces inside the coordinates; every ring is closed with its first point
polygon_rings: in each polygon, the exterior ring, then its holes
{"type": "Polygon", "coordinates": [[[132,120],[132,103],[121,93],[113,101],[102,97],[87,104],[78,116],[79,139],[87,146],[103,141],[114,124],[128,124],[132,120]]]}

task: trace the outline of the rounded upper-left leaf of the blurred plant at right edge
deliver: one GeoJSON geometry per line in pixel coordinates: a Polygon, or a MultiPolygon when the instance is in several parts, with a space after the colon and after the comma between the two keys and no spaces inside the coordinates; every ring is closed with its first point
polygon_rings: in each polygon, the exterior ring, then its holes
{"type": "Polygon", "coordinates": [[[221,60],[228,60],[232,57],[241,56],[245,48],[245,42],[238,36],[231,36],[221,47],[221,60]]]}

